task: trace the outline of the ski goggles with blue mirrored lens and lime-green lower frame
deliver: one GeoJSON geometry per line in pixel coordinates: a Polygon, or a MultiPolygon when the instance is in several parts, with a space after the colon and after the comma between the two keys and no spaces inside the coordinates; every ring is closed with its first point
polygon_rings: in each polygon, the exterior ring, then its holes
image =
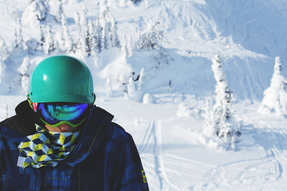
{"type": "Polygon", "coordinates": [[[80,125],[88,117],[96,100],[95,94],[92,103],[35,103],[29,99],[29,94],[27,98],[30,107],[37,113],[40,120],[51,127],[57,127],[63,123],[67,123],[72,127],[80,125]]]}

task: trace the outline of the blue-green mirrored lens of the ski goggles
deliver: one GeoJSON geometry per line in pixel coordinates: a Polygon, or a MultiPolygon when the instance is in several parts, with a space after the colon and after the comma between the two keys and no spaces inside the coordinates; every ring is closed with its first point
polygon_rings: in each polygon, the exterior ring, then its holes
{"type": "Polygon", "coordinates": [[[57,103],[38,103],[38,116],[49,125],[56,125],[62,121],[78,124],[84,121],[90,111],[92,103],[61,105],[57,103]]]}

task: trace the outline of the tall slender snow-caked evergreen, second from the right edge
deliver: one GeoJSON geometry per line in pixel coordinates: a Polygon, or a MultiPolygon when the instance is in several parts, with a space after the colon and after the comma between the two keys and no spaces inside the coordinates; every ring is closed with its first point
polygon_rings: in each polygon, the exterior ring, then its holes
{"type": "Polygon", "coordinates": [[[212,71],[216,80],[216,103],[213,111],[205,118],[203,134],[216,135],[222,139],[223,147],[227,148],[230,145],[234,148],[236,137],[241,133],[240,124],[236,123],[232,117],[233,94],[227,86],[219,53],[214,56],[212,63],[212,71]]]}

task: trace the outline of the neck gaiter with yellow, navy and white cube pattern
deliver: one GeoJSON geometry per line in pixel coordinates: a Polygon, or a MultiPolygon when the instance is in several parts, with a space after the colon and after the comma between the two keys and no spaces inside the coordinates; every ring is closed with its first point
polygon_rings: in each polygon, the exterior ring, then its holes
{"type": "Polygon", "coordinates": [[[64,160],[78,143],[81,131],[75,133],[57,133],[43,129],[36,125],[37,133],[26,137],[18,146],[24,159],[23,168],[31,165],[34,168],[41,166],[56,166],[64,160]]]}

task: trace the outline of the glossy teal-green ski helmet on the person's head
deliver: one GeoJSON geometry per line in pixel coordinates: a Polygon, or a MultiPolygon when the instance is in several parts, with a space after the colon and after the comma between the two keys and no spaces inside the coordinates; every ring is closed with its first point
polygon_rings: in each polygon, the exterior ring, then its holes
{"type": "Polygon", "coordinates": [[[32,72],[28,97],[35,103],[92,103],[95,99],[92,74],[75,57],[51,56],[32,72]]]}

